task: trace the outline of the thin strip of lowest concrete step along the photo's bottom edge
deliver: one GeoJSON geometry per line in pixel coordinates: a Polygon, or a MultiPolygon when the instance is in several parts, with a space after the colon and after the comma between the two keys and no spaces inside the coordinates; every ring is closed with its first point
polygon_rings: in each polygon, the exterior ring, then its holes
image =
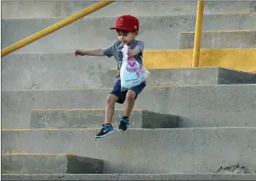
{"type": "Polygon", "coordinates": [[[2,180],[254,180],[256,174],[1,175],[2,180]]]}

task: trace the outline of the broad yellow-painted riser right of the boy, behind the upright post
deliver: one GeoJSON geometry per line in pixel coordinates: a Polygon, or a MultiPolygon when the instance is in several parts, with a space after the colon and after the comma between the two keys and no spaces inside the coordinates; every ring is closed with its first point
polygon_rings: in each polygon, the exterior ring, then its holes
{"type": "MultiPolygon", "coordinates": [[[[146,69],[191,68],[193,49],[146,50],[146,69]]],[[[256,70],[256,49],[201,49],[199,67],[214,66],[245,72],[256,70]]]]}

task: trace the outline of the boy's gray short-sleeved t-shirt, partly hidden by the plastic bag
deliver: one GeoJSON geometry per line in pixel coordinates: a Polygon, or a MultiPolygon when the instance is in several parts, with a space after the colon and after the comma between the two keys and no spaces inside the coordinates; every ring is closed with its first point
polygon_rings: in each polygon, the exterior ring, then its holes
{"type": "MultiPolygon", "coordinates": [[[[113,44],[109,45],[108,47],[102,49],[103,53],[107,57],[112,57],[114,56],[114,59],[118,62],[118,75],[120,72],[120,68],[122,66],[122,48],[123,48],[123,43],[120,41],[115,41],[113,44]]],[[[138,41],[134,40],[131,42],[130,45],[128,45],[130,49],[134,49],[136,46],[140,47],[142,49],[141,53],[138,53],[138,55],[134,56],[134,59],[138,61],[139,64],[142,65],[142,56],[143,56],[143,49],[144,49],[144,43],[143,41],[138,41]]]]}

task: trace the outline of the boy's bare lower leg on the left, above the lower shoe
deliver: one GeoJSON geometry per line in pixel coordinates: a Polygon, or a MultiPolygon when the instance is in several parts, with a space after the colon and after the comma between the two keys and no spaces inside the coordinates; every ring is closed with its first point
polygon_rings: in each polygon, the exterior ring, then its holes
{"type": "Polygon", "coordinates": [[[110,94],[106,98],[106,114],[105,114],[105,124],[111,124],[114,115],[114,104],[118,101],[118,96],[110,94]]]}

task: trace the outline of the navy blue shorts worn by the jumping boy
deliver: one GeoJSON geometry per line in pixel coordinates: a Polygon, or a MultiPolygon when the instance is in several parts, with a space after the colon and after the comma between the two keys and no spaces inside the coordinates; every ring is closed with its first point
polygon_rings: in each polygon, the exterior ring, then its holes
{"type": "MultiPolygon", "coordinates": [[[[140,92],[142,92],[142,90],[146,87],[146,81],[142,82],[142,84],[137,85],[131,89],[128,90],[133,90],[136,94],[135,96],[135,100],[137,99],[137,96],[140,92]]],[[[118,103],[119,104],[123,104],[126,100],[126,93],[128,92],[128,90],[122,91],[121,92],[121,80],[118,79],[115,84],[114,84],[114,88],[112,89],[112,91],[110,92],[110,94],[114,94],[115,96],[118,96],[118,103]]]]}

